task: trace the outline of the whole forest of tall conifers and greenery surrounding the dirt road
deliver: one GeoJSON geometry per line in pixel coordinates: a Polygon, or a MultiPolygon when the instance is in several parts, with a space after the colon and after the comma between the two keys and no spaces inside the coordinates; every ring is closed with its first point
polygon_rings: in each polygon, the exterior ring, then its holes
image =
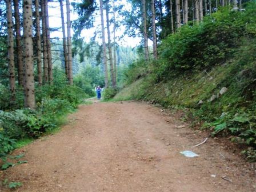
{"type": "Polygon", "coordinates": [[[104,87],[103,101],[147,101],[181,110],[191,128],[228,138],[246,161],[256,161],[255,1],[0,5],[2,170],[13,166],[13,150],[55,133],[68,114],[88,105],[97,86],[104,87]],[[54,9],[61,27],[50,27],[54,9]],[[90,29],[94,34],[86,41],[90,29]],[[55,32],[61,35],[51,37],[55,32]],[[139,45],[122,44],[135,37],[139,45]]]}

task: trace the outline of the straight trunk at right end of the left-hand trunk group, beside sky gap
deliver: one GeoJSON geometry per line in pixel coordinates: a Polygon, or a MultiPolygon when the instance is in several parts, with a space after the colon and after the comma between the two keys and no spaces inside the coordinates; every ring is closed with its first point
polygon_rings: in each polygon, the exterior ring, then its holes
{"type": "Polygon", "coordinates": [[[72,42],[71,42],[71,21],[70,21],[70,3],[67,3],[67,59],[69,61],[69,85],[73,85],[73,67],[72,67],[72,42]]]}

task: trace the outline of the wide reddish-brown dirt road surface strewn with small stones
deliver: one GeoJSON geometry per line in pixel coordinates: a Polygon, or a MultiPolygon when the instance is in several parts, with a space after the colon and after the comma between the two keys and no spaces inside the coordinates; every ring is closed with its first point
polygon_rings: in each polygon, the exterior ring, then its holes
{"type": "Polygon", "coordinates": [[[28,163],[2,171],[1,179],[21,181],[17,191],[29,192],[256,191],[254,165],[219,139],[192,147],[205,137],[146,103],[95,102],[80,106],[61,132],[14,151],[28,163]]]}

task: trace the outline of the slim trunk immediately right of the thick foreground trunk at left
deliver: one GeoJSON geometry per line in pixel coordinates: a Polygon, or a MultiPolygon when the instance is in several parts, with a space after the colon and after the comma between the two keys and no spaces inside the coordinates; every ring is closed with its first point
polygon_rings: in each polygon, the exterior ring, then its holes
{"type": "Polygon", "coordinates": [[[42,58],[41,58],[41,30],[40,30],[40,14],[39,14],[39,1],[35,0],[35,21],[36,21],[36,35],[37,35],[37,75],[38,85],[42,85],[42,58]]]}

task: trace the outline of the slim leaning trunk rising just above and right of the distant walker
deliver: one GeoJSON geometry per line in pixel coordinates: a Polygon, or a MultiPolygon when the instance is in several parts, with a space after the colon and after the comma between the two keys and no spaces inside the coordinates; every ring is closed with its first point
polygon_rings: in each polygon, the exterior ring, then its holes
{"type": "Polygon", "coordinates": [[[103,19],[103,3],[102,0],[99,0],[100,8],[101,8],[101,34],[102,34],[102,46],[103,46],[103,63],[105,66],[105,87],[109,86],[109,79],[107,73],[107,54],[106,54],[106,41],[105,41],[105,27],[104,27],[104,19],[103,19]]]}

